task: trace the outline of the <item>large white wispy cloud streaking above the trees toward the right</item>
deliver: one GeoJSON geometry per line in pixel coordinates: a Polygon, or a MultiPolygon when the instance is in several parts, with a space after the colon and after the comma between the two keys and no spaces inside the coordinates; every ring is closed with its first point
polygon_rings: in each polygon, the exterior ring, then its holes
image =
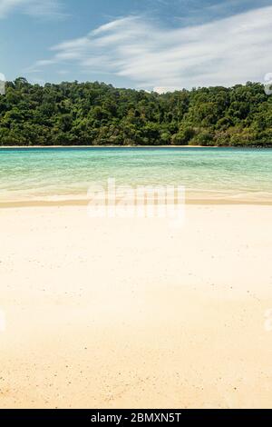
{"type": "Polygon", "coordinates": [[[52,57],[33,70],[73,64],[84,73],[116,74],[160,92],[257,81],[271,67],[271,23],[272,6],[172,29],[128,16],[53,46],[52,57]]]}

